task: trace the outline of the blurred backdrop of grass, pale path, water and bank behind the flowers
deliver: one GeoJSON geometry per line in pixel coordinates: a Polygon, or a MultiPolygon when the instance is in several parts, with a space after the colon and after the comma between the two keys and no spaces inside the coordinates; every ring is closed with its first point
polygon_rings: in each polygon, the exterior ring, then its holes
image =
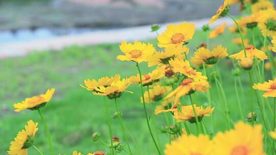
{"type": "MultiPolygon", "coordinates": [[[[151,24],[192,20],[200,28],[221,4],[222,1],[214,0],[0,0],[0,154],[7,154],[9,142],[30,119],[39,122],[36,146],[49,154],[38,113],[29,110],[15,113],[12,106],[49,88],[56,88],[56,93],[41,112],[49,123],[55,153],[105,150],[90,138],[94,132],[100,132],[108,140],[103,99],[79,85],[85,79],[116,73],[123,77],[136,74],[133,63],[116,60],[122,40],[139,39],[156,45],[151,24]]],[[[238,6],[233,6],[231,12],[237,14],[238,6]]],[[[205,35],[196,31],[189,43],[190,51],[205,41],[205,35]]],[[[211,44],[228,46],[229,38],[233,35],[226,32],[211,44]]],[[[231,52],[238,50],[240,47],[231,46],[231,52]]],[[[145,64],[142,68],[143,73],[152,69],[145,64]]],[[[226,93],[233,87],[230,81],[225,84],[229,85],[226,93]]],[[[144,146],[142,154],[152,154],[155,149],[149,139],[139,87],[131,86],[129,90],[135,93],[119,99],[123,119],[144,146]]],[[[206,102],[204,96],[198,97],[206,102]]],[[[108,104],[114,113],[113,100],[108,100],[108,104]]],[[[164,116],[157,117],[160,117],[158,126],[164,125],[164,116]]],[[[122,139],[118,120],[112,120],[112,128],[114,136],[122,139]]],[[[161,135],[157,130],[155,134],[161,135]]],[[[166,136],[160,139],[168,141],[166,136]]],[[[164,149],[163,144],[160,147],[164,149]]],[[[36,154],[33,148],[29,152],[36,154]]]]}

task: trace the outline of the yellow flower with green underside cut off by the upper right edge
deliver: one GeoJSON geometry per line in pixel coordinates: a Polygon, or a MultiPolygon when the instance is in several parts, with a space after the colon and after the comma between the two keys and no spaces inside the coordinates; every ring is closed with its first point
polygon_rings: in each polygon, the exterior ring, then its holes
{"type": "Polygon", "coordinates": [[[276,10],[262,10],[260,14],[264,14],[266,17],[264,22],[258,24],[262,35],[268,37],[276,36],[276,10]]]}

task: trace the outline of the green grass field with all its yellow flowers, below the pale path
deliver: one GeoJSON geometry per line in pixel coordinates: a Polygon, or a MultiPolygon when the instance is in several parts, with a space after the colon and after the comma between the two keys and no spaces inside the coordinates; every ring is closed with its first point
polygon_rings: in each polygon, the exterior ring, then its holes
{"type": "Polygon", "coordinates": [[[274,5],[214,14],[201,30],[1,60],[0,153],[275,154],[274,5]],[[210,29],[221,17],[233,23],[210,29]]]}

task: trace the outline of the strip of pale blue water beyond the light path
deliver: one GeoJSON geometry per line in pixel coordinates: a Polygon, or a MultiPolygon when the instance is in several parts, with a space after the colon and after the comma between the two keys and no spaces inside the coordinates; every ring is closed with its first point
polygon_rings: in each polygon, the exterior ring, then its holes
{"type": "Polygon", "coordinates": [[[50,39],[57,36],[83,34],[83,33],[95,32],[97,30],[98,29],[90,29],[90,28],[72,28],[72,29],[39,28],[36,30],[20,29],[17,31],[0,31],[0,44],[32,41],[37,39],[50,39]]]}

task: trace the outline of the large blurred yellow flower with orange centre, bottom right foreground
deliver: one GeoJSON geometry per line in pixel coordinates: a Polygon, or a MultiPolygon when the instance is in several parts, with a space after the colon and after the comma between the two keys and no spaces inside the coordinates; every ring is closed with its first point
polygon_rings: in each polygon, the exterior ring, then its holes
{"type": "Polygon", "coordinates": [[[235,124],[234,130],[218,133],[213,139],[214,155],[265,154],[263,151],[262,126],[251,126],[242,121],[235,124]]]}

